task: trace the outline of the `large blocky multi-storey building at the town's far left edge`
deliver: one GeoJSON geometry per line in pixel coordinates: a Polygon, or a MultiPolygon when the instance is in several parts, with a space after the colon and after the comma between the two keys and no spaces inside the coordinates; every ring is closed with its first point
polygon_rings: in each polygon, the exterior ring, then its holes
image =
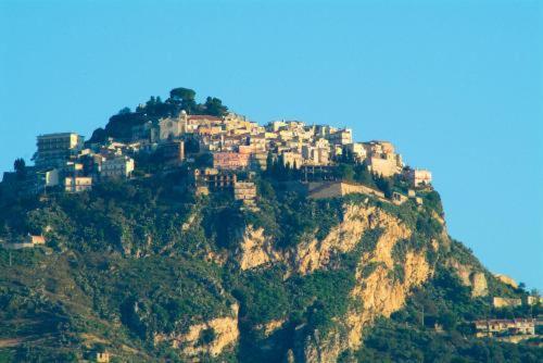
{"type": "Polygon", "coordinates": [[[34,160],[39,168],[56,167],[83,148],[84,138],[75,133],[40,135],[37,138],[38,151],[34,160]]]}

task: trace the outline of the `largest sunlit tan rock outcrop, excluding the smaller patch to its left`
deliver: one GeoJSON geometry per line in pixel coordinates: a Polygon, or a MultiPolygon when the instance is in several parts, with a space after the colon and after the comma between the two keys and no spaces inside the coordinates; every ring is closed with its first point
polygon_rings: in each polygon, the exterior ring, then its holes
{"type": "MultiPolygon", "coordinates": [[[[371,228],[381,228],[382,234],[375,248],[364,252],[358,261],[356,285],[351,291],[353,303],[348,314],[338,320],[342,328],[326,336],[320,336],[318,331],[310,335],[303,349],[305,362],[333,362],[341,352],[358,349],[364,328],[376,317],[389,317],[400,310],[411,290],[426,281],[433,272],[426,260],[425,250],[407,251],[404,261],[394,261],[392,250],[395,243],[408,239],[412,230],[399,218],[365,205],[345,206],[343,222],[319,245],[311,241],[300,246],[299,259],[295,260],[299,272],[307,273],[323,267],[334,251],[353,250],[364,233],[371,228]],[[364,272],[368,265],[375,266],[370,273],[364,272]],[[402,276],[395,276],[399,266],[402,276]]],[[[434,245],[429,243],[427,248],[437,249],[434,245]]]]}

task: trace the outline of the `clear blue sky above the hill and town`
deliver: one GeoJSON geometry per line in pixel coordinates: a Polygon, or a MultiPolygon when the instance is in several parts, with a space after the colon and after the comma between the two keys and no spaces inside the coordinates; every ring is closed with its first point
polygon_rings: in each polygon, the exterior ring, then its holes
{"type": "Polygon", "coordinates": [[[542,289],[542,22],[541,1],[0,0],[0,171],[189,87],[393,141],[453,237],[542,289]]]}

